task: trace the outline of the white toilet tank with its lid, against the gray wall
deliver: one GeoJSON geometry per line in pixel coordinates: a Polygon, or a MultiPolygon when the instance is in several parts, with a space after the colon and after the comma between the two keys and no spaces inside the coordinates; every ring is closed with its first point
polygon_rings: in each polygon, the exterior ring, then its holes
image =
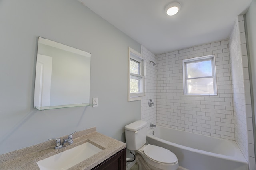
{"type": "Polygon", "coordinates": [[[147,139],[147,122],[146,121],[135,121],[126,125],[125,129],[125,139],[126,147],[129,150],[138,150],[145,143],[147,139]]]}

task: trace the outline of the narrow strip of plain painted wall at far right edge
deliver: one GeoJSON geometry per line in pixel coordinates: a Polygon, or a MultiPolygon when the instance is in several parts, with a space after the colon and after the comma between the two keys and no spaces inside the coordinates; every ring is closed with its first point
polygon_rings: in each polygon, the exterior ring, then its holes
{"type": "MultiPolygon", "coordinates": [[[[249,47],[249,54],[250,54],[250,68],[251,68],[251,83],[253,89],[253,96],[254,96],[254,119],[256,113],[256,0],[252,0],[252,4],[250,5],[248,12],[246,13],[246,26],[247,26],[247,38],[248,38],[248,47],[249,47]]],[[[255,124],[254,124],[254,136],[255,136],[255,124]]],[[[255,139],[255,137],[254,137],[255,139]]],[[[255,145],[255,144],[254,144],[255,145]]],[[[250,154],[249,152],[249,160],[250,164],[253,164],[255,167],[255,155],[250,154]],[[251,163],[253,162],[253,163],[251,163]]],[[[256,168],[254,168],[255,170],[256,168]]]]}

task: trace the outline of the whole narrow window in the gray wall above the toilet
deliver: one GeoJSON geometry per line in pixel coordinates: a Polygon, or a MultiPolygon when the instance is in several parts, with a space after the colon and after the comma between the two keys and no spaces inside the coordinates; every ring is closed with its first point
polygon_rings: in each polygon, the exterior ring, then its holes
{"type": "Polygon", "coordinates": [[[128,101],[141,100],[144,96],[144,59],[129,47],[129,95],[128,101]]]}

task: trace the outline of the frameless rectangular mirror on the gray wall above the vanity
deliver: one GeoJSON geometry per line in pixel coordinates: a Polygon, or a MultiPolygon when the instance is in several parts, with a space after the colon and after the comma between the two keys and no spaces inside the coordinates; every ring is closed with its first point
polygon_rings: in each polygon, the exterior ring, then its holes
{"type": "Polygon", "coordinates": [[[38,38],[34,108],[90,105],[91,54],[38,38]]]}

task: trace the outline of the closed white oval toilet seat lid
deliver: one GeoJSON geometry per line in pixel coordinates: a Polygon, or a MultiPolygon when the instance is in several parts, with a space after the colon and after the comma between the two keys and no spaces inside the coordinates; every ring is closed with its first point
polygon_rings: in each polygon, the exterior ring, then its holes
{"type": "Polygon", "coordinates": [[[143,148],[144,155],[162,164],[176,164],[178,158],[170,150],[155,145],[146,145],[143,148]]]}

